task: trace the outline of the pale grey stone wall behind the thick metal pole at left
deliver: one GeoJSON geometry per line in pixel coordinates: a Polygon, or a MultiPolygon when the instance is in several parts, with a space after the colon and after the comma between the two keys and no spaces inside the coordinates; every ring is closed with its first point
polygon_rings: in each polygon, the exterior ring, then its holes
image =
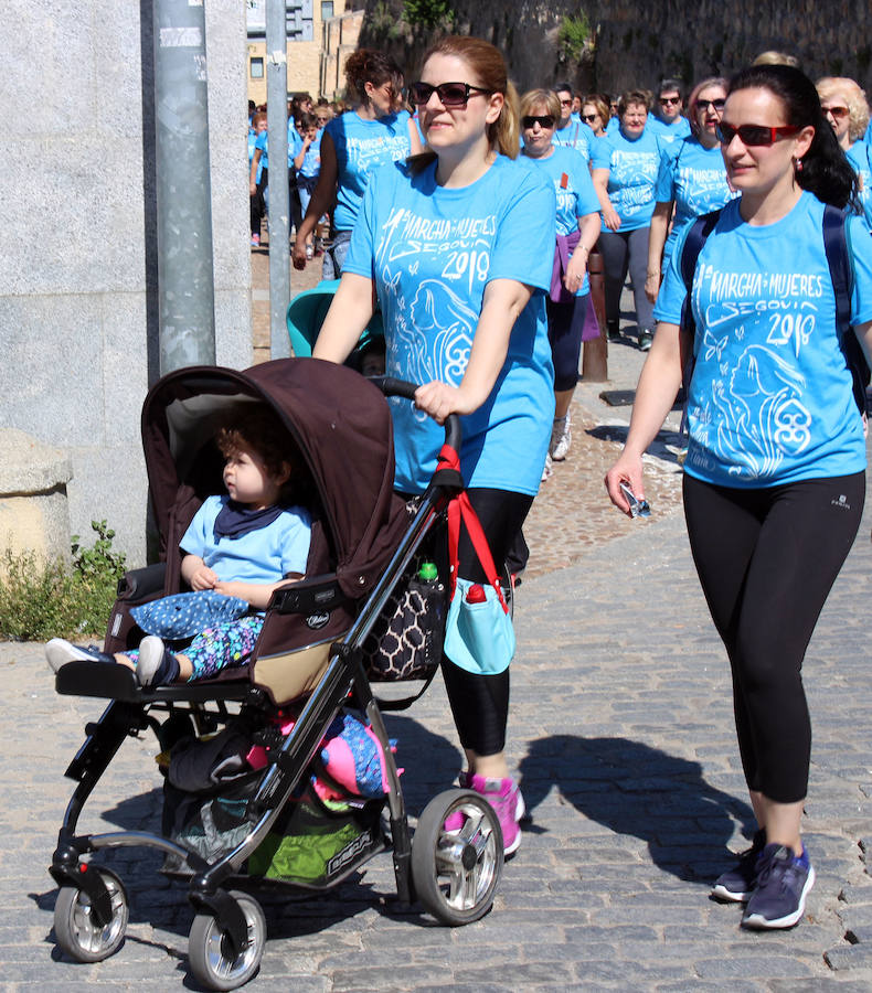
{"type": "MultiPolygon", "coordinates": [[[[205,4],[216,349],[235,367],[252,354],[244,10],[205,4]]],[[[68,452],[73,532],[106,519],[137,565],[158,374],[151,2],[4,11],[0,428],[68,452]]]]}

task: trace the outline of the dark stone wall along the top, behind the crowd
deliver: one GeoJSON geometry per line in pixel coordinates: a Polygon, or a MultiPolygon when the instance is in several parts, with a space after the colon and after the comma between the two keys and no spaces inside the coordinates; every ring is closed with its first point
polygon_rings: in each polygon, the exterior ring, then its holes
{"type": "MultiPolygon", "coordinates": [[[[799,56],[812,78],[849,75],[872,94],[872,9],[849,0],[456,0],[455,30],[497,44],[520,89],[568,78],[617,93],[730,75],[766,49],[799,56]],[[593,60],[566,62],[564,15],[579,10],[595,32],[593,60]]],[[[402,0],[368,0],[361,44],[385,47],[410,74],[434,32],[402,20],[402,0]]]]}

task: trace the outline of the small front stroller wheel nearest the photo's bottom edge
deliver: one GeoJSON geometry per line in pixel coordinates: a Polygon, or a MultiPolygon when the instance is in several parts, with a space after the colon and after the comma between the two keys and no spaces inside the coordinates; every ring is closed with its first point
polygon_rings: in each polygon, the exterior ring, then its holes
{"type": "Polygon", "coordinates": [[[227,932],[214,915],[201,911],[194,917],[188,937],[191,972],[206,990],[235,990],[247,983],[260,968],[266,944],[266,919],[260,905],[246,893],[228,894],[240,905],[248,929],[246,942],[234,953],[227,932]]]}

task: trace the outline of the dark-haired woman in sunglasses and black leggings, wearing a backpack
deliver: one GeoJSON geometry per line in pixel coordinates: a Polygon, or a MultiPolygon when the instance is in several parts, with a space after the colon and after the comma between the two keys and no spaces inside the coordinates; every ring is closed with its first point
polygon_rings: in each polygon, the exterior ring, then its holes
{"type": "Polygon", "coordinates": [[[713,895],[746,903],[744,927],[787,928],[801,919],[815,882],[800,834],[811,744],[802,660],[863,510],[863,419],[843,346],[855,334],[866,356],[872,349],[872,241],[849,214],[852,330],[842,328],[823,217],[826,205],[851,202],[855,178],[799,70],[738,73],[719,137],[741,196],[699,253],[692,341],[680,332],[685,238],[672,254],[627,444],[606,485],[625,512],[621,482],[642,495],[642,453],[692,348],[684,514],[730,658],[757,821],[751,850],[713,895]]]}

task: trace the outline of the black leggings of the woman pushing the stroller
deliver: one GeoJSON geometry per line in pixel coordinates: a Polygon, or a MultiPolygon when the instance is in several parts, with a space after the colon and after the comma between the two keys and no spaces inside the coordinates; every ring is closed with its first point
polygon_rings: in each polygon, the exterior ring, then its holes
{"type": "MultiPolygon", "coordinates": [[[[499,570],[533,502],[525,493],[470,489],[469,500],[478,514],[499,570]]],[[[488,581],[466,528],[460,528],[458,574],[472,583],[488,581]]],[[[497,675],[467,672],[443,655],[443,679],[454,723],[464,748],[476,755],[497,755],[506,747],[509,720],[509,670],[497,675]]]]}

